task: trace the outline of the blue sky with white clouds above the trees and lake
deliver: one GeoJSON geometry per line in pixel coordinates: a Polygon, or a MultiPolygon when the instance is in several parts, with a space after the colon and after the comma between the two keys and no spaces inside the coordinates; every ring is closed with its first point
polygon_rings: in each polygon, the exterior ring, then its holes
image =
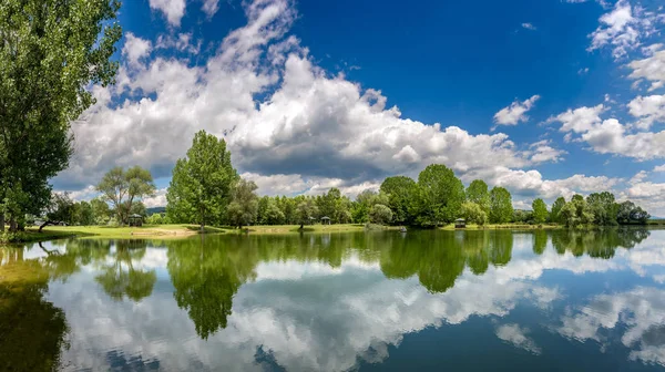
{"type": "Polygon", "coordinates": [[[93,87],[53,179],[74,197],[139,164],[164,204],[205,128],[262,194],[354,196],[443,163],[515,207],[612,189],[665,215],[658,1],[136,0],[119,21],[117,84],[93,87]]]}

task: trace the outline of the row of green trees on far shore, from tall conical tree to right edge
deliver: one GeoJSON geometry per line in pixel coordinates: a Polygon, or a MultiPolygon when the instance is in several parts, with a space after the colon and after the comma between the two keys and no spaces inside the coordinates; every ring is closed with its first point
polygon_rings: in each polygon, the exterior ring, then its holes
{"type": "MultiPolygon", "coordinates": [[[[355,200],[330,188],[317,196],[263,196],[254,182],[239,177],[231,162],[231,153],[222,138],[201,131],[196,133],[185,158],[178,159],[168,187],[166,214],[158,219],[168,223],[232,225],[305,225],[374,223],[401,226],[437,227],[457,218],[468,223],[490,224],[562,224],[614,226],[645,224],[649,215],[634,203],[616,203],[610,192],[584,198],[556,199],[549,210],[543,199],[532,203],[532,210],[515,210],[512,196],[504,187],[489,188],[475,179],[464,188],[452,169],[442,164],[427,166],[418,179],[388,177],[378,192],[367,189],[355,200]]],[[[157,217],[155,220],[157,221],[157,217]]]]}

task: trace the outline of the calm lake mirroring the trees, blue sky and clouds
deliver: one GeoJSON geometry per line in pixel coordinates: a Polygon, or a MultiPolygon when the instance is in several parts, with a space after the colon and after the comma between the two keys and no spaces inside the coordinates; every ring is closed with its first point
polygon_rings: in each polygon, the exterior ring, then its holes
{"type": "Polygon", "coordinates": [[[663,371],[665,230],[0,248],[0,370],[663,371]]]}

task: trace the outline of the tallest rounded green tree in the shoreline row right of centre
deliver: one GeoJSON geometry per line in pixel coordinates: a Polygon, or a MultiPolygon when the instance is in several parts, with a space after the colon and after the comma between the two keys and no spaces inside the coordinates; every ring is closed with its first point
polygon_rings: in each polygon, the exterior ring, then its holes
{"type": "Polygon", "coordinates": [[[442,164],[427,166],[418,175],[417,217],[419,225],[437,226],[458,218],[464,202],[464,185],[442,164]]]}

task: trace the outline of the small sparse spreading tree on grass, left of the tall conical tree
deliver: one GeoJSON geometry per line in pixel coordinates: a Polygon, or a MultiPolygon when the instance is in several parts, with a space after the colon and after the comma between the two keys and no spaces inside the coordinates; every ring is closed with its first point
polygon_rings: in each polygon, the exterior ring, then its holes
{"type": "Polygon", "coordinates": [[[122,167],[112,168],[95,188],[102,193],[103,200],[113,205],[117,223],[121,225],[132,214],[134,202],[155,194],[155,184],[150,170],[137,165],[126,170],[122,167]]]}

